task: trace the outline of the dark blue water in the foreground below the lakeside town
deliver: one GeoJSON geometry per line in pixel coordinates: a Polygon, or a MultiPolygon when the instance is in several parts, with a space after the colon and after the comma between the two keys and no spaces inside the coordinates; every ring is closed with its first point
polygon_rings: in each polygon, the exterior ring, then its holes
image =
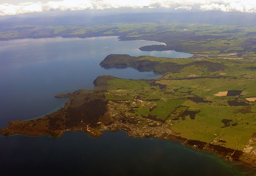
{"type": "Polygon", "coordinates": [[[100,138],[69,131],[57,139],[0,140],[0,167],[8,175],[243,175],[242,170],[250,174],[240,165],[178,142],[127,138],[124,131],[105,131],[100,138]]]}

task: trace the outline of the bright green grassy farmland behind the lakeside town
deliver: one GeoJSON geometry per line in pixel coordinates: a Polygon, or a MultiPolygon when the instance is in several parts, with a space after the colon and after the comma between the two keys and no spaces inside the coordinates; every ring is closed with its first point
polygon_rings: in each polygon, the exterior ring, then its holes
{"type": "MultiPolygon", "coordinates": [[[[153,57],[148,57],[154,60],[153,57]]],[[[166,58],[155,58],[157,61],[166,61],[166,58]]],[[[169,60],[168,60],[169,61],[169,60]]],[[[175,62],[184,64],[189,60],[175,59],[175,62]]],[[[126,115],[141,117],[156,115],[157,119],[172,121],[172,130],[181,137],[188,139],[211,142],[223,140],[217,144],[243,150],[251,135],[255,132],[256,105],[255,102],[246,101],[246,97],[256,97],[255,71],[250,68],[254,65],[252,60],[211,60],[212,62],[223,62],[228,68],[222,71],[209,72],[203,66],[192,65],[180,70],[179,73],[166,73],[155,79],[155,84],[147,80],[113,79],[108,82],[107,99],[131,100],[139,98],[141,102],[134,103],[131,112],[126,115]],[[220,73],[225,73],[222,77],[220,73]],[[187,78],[190,74],[196,74],[205,78],[187,78]],[[206,78],[211,76],[211,78],[206,78]],[[156,83],[164,84],[166,87],[160,89],[156,83]],[[244,90],[240,96],[216,97],[218,92],[229,90],[244,90]],[[194,102],[188,97],[201,97],[210,102],[194,102]],[[229,100],[246,102],[248,105],[230,106],[229,100]],[[179,107],[181,106],[181,107],[179,107]],[[246,114],[241,109],[250,107],[246,114]],[[186,109],[189,111],[200,111],[194,120],[186,116],[184,120],[179,116],[186,109]],[[134,111],[135,110],[135,111],[134,111]],[[232,120],[224,127],[223,119],[232,120]],[[232,126],[233,125],[233,126],[232,126]]]]}

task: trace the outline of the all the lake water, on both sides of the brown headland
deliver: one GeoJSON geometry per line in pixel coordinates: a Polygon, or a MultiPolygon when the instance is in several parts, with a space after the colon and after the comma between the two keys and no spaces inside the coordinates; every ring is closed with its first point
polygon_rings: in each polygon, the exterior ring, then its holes
{"type": "MultiPolygon", "coordinates": [[[[99,75],[152,79],[160,75],[133,68],[105,70],[109,54],[186,58],[175,51],[142,52],[154,41],[118,41],[113,37],[45,38],[0,41],[0,127],[60,108],[54,95],[93,89],[99,75]]],[[[0,137],[0,174],[19,175],[241,175],[255,170],[178,142],[126,137],[104,131],[100,138],[69,131],[59,138],[0,137]]]]}

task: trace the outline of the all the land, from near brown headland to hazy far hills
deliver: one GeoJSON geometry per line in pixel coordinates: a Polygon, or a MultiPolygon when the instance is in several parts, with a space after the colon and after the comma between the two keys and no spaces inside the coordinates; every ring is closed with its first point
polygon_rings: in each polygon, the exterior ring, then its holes
{"type": "Polygon", "coordinates": [[[183,13],[179,18],[170,13],[154,14],[154,18],[139,14],[143,23],[135,18],[138,14],[122,21],[112,15],[107,22],[103,16],[91,17],[100,19],[99,24],[87,22],[90,16],[71,22],[76,14],[66,25],[59,20],[65,19],[62,16],[44,18],[44,26],[36,22],[40,17],[0,20],[0,40],[119,36],[165,43],[141,47],[142,51],[194,54],[187,59],[108,55],[100,63],[105,69],[133,67],[162,76],[153,80],[99,76],[94,90],[56,95],[69,98],[58,111],[9,121],[0,133],[59,137],[65,131],[82,130],[99,137],[104,130],[125,130],[129,136],[175,140],[256,167],[255,14],[218,13],[211,19],[214,13],[205,12],[202,19],[198,19],[202,12],[183,13]],[[57,19],[60,22],[54,25],[57,19]]]}

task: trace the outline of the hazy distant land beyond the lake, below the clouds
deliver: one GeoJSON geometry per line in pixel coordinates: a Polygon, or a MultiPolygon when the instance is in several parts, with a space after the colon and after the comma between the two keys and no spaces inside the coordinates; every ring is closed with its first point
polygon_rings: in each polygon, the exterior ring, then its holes
{"type": "Polygon", "coordinates": [[[26,18],[0,18],[0,40],[120,36],[121,40],[166,43],[166,46],[145,46],[140,48],[142,51],[238,53],[239,57],[250,58],[256,53],[255,18],[253,13],[215,11],[106,16],[90,13],[55,14],[52,17],[28,15],[26,18]]]}

